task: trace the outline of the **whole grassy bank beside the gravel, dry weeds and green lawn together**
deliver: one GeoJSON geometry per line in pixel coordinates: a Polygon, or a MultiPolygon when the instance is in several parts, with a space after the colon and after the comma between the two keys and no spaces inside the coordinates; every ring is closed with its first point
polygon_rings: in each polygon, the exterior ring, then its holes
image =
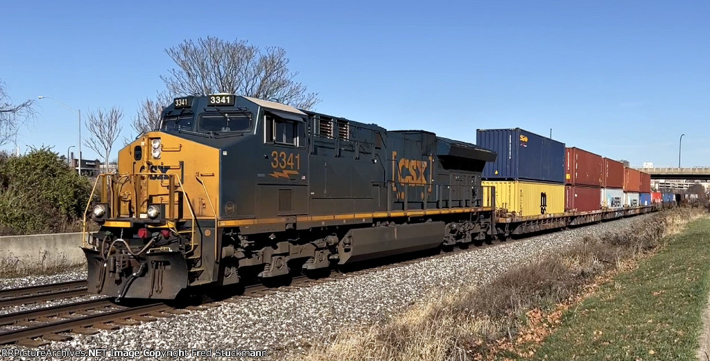
{"type": "Polygon", "coordinates": [[[639,217],[515,262],[488,282],[430,294],[388,321],[342,331],[305,358],[690,360],[709,249],[704,209],[639,217]]]}

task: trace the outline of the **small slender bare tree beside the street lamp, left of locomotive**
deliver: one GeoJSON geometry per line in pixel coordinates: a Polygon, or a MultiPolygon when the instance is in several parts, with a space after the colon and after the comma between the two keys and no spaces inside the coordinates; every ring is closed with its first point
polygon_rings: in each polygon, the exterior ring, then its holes
{"type": "Polygon", "coordinates": [[[119,133],[121,133],[121,119],[123,118],[124,112],[114,106],[108,112],[101,109],[89,112],[87,120],[84,121],[84,125],[92,135],[84,140],[84,145],[94,152],[104,155],[106,172],[109,172],[109,155],[111,148],[116,143],[116,138],[119,138],[119,133]]]}

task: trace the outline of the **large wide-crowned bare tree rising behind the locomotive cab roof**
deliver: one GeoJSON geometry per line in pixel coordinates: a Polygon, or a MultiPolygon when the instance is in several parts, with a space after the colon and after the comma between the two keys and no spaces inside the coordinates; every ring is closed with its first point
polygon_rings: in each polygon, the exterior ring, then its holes
{"type": "Polygon", "coordinates": [[[230,93],[278,101],[300,109],[320,103],[317,93],[308,93],[295,82],[297,72],[288,69],[283,48],[258,48],[244,40],[214,37],[185,40],[165,49],[177,68],[161,76],[170,94],[230,93]]]}

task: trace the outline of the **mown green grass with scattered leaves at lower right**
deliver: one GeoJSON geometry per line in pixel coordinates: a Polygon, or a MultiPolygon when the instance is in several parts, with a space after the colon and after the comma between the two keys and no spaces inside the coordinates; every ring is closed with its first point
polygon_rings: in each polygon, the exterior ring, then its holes
{"type": "Polygon", "coordinates": [[[710,291],[710,220],[569,309],[536,360],[697,360],[710,291]]]}

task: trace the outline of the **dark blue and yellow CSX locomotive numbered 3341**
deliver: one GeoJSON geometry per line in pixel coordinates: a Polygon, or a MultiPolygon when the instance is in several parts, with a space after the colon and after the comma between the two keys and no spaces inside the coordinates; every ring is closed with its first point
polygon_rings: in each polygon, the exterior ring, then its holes
{"type": "Polygon", "coordinates": [[[494,221],[481,172],[495,158],[246,96],[178,98],[97,179],[89,290],[173,299],[481,240],[494,221]]]}

